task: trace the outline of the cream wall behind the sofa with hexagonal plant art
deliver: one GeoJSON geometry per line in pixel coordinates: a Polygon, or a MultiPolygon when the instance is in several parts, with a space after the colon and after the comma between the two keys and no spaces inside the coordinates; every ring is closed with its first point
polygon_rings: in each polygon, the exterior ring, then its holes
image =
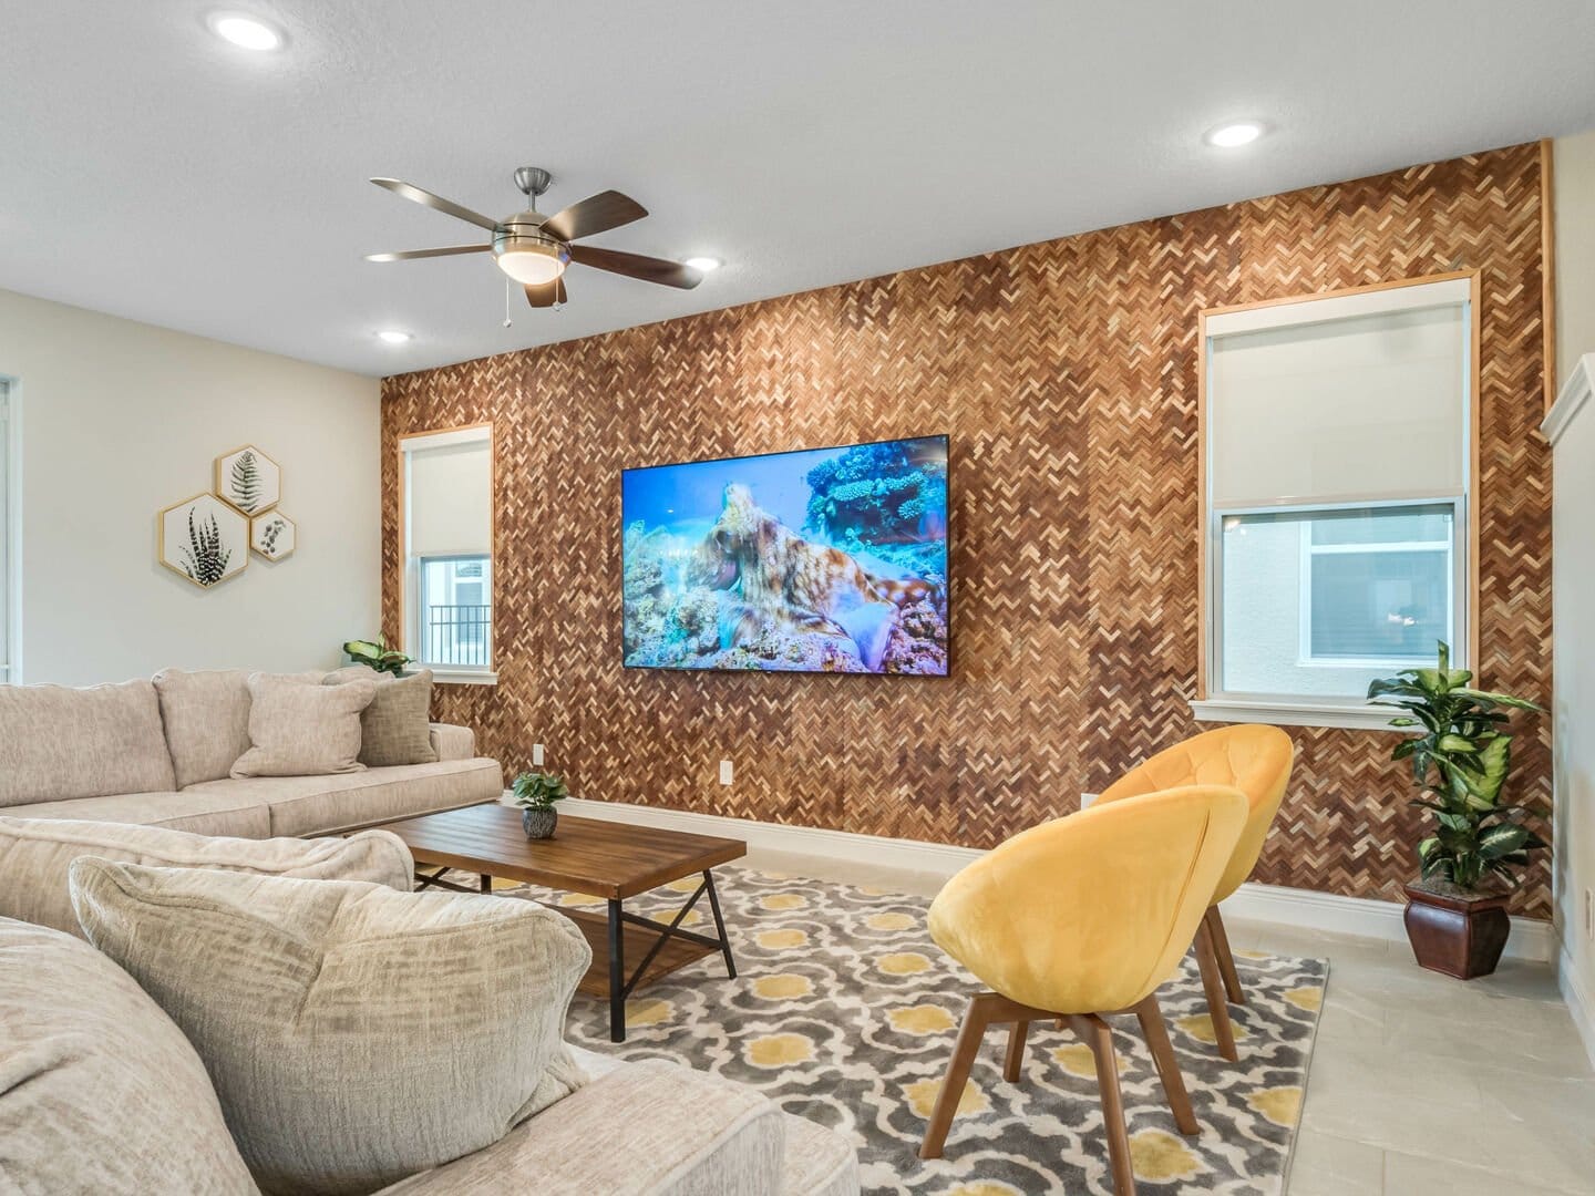
{"type": "Polygon", "coordinates": [[[0,290],[22,410],[26,683],[335,665],[380,614],[375,378],[0,290]],[[155,515],[255,443],[282,466],[292,557],[201,590],[156,563],[155,515]]]}

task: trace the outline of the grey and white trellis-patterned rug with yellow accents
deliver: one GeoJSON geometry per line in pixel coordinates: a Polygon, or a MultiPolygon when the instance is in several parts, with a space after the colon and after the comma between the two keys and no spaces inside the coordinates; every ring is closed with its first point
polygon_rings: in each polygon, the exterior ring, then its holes
{"type": "MultiPolygon", "coordinates": [[[[609,1041],[608,1005],[577,993],[573,1041],[624,1059],[673,1059],[762,1089],[786,1111],[850,1134],[871,1193],[1112,1193],[1091,1051],[1042,1025],[1030,1027],[1018,1084],[1002,1078],[1006,1030],[987,1032],[946,1158],[919,1159],[965,1001],[978,987],[925,931],[928,899],[738,867],[715,877],[738,978],[726,979],[718,955],[671,973],[628,1003],[622,1045],[609,1041]]],[[[695,877],[679,880],[627,907],[668,915],[695,887],[695,877]]],[[[494,891],[603,909],[597,898],[509,882],[494,891]]],[[[707,898],[684,925],[705,923],[713,925],[707,898]]],[[[1195,958],[1160,993],[1201,1123],[1196,1139],[1176,1131],[1136,1019],[1115,1019],[1144,1191],[1284,1186],[1329,965],[1236,952],[1236,966],[1247,992],[1247,1005],[1231,1006],[1239,1064],[1214,1048],[1195,958]]]]}

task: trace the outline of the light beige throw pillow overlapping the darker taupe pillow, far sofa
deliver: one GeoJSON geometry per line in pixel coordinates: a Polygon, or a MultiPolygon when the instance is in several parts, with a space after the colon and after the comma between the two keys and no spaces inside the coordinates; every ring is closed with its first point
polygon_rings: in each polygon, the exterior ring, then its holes
{"type": "Polygon", "coordinates": [[[233,777],[321,777],[359,772],[360,711],[376,686],[305,686],[287,678],[249,678],[250,748],[233,762],[233,777]]]}

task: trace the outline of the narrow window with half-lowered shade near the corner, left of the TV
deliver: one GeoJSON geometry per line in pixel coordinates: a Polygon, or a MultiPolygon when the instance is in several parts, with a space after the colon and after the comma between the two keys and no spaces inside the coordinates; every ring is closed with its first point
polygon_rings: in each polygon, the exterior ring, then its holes
{"type": "Polygon", "coordinates": [[[491,427],[400,440],[405,652],[442,681],[493,676],[491,427]]]}

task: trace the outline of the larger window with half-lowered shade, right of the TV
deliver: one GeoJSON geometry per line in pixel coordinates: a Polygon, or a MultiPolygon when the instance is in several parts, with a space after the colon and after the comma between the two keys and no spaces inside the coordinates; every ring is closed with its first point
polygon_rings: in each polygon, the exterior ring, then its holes
{"type": "Polygon", "coordinates": [[[1198,718],[1383,726],[1369,681],[1467,659],[1467,277],[1209,314],[1198,718]]]}

